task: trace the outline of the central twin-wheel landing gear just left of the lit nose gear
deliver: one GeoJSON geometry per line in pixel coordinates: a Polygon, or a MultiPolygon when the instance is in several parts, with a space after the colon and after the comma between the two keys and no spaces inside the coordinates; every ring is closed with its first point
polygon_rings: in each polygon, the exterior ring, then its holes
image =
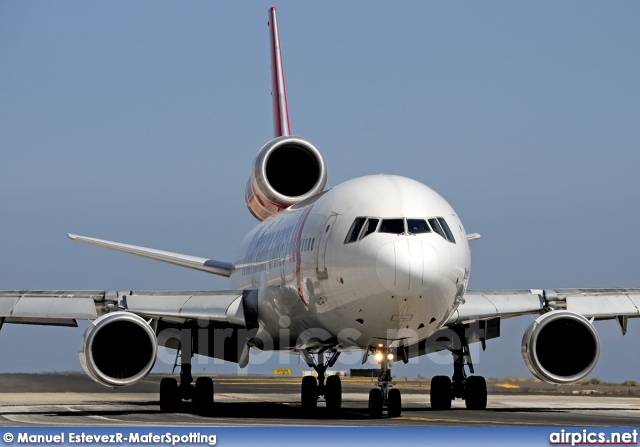
{"type": "Polygon", "coordinates": [[[300,397],[302,408],[305,411],[312,411],[318,405],[320,396],[324,397],[327,408],[332,411],[339,411],[342,406],[342,382],[339,376],[326,377],[327,368],[331,368],[340,356],[339,352],[333,352],[325,359],[324,353],[318,354],[317,361],[308,351],[302,351],[305,362],[318,373],[318,378],[304,376],[300,397]],[[326,378],[326,380],[325,380],[326,378]]]}

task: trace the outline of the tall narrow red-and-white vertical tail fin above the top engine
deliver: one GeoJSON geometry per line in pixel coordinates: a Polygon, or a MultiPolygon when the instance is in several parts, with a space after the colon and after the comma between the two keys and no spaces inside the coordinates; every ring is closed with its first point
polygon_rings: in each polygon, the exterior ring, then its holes
{"type": "Polygon", "coordinates": [[[276,8],[269,8],[269,22],[271,37],[271,99],[273,101],[273,136],[283,137],[291,135],[289,128],[289,107],[287,106],[287,88],[284,85],[284,67],[282,52],[280,51],[280,33],[278,32],[278,17],[276,8]]]}

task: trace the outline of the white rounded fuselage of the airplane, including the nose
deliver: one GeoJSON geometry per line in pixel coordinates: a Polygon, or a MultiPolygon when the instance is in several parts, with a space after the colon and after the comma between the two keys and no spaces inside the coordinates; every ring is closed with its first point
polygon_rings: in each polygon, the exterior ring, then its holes
{"type": "Polygon", "coordinates": [[[260,331],[273,349],[367,349],[409,345],[439,329],[464,295],[470,252],[460,219],[435,191],[373,175],[261,222],[235,266],[231,286],[259,290],[260,331]],[[350,241],[358,218],[378,229],[350,241]],[[455,242],[431,229],[406,231],[407,219],[435,218],[447,222],[455,242]],[[389,219],[404,219],[404,230],[381,231],[389,219]]]}

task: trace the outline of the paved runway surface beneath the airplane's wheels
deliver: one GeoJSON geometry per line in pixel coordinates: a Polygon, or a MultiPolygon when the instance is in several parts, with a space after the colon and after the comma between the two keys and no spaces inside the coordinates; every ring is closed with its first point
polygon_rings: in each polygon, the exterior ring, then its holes
{"type": "Polygon", "coordinates": [[[486,411],[453,402],[451,411],[432,411],[423,383],[398,383],[399,418],[371,419],[367,380],[343,380],[343,408],[330,413],[320,401],[313,414],[300,406],[300,378],[214,377],[215,412],[196,414],[186,403],[179,413],[161,413],[161,376],[111,390],[82,374],[0,376],[3,426],[637,426],[639,397],[490,394],[486,411]]]}

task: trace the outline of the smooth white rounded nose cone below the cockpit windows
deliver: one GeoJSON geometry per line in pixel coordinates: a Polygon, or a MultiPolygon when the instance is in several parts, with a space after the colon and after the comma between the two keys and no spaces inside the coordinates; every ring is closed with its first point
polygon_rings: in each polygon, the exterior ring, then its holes
{"type": "Polygon", "coordinates": [[[438,254],[429,244],[405,239],[383,245],[376,256],[376,273],[394,295],[419,295],[438,276],[438,254]]]}

